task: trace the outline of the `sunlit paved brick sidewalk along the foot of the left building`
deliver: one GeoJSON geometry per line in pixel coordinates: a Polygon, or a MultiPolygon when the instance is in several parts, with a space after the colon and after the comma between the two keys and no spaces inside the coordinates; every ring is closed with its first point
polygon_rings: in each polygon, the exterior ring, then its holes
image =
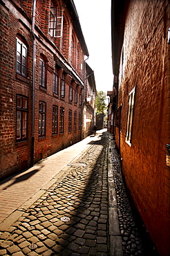
{"type": "MultiPolygon", "coordinates": [[[[98,131],[98,134],[106,131],[98,131]]],[[[44,194],[50,185],[62,175],[68,163],[75,161],[84,150],[91,146],[97,136],[88,136],[84,140],[72,145],[48,158],[40,161],[25,172],[11,176],[0,183],[0,223],[16,209],[28,208],[36,199],[44,194]]],[[[17,216],[16,216],[17,217],[17,216]]],[[[15,220],[15,214],[13,218],[15,220]]]]}

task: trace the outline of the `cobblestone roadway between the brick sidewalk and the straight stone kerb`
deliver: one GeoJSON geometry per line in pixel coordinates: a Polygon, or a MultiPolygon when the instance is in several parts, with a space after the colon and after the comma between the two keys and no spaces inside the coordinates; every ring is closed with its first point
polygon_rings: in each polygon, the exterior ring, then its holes
{"type": "Polygon", "coordinates": [[[0,255],[109,255],[107,154],[102,136],[0,233],[0,255]]]}

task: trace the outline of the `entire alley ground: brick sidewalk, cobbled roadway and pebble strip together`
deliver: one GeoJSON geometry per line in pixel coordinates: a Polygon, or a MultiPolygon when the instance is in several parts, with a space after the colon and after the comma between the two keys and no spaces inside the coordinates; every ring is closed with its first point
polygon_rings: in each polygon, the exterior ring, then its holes
{"type": "Polygon", "coordinates": [[[101,130],[1,183],[0,255],[143,255],[119,171],[101,130]]]}

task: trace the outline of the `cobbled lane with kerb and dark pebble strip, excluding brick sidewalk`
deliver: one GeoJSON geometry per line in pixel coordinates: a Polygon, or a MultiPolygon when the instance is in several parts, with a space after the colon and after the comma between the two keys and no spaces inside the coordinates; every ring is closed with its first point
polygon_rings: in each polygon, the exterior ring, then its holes
{"type": "Polygon", "coordinates": [[[42,196],[0,230],[0,255],[144,255],[115,150],[107,132],[92,138],[42,196]],[[109,209],[114,190],[119,221],[109,209]]]}

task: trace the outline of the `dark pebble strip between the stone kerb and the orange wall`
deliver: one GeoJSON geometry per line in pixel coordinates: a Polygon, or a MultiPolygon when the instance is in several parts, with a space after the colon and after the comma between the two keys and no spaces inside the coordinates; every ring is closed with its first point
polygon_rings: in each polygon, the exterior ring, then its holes
{"type": "Polygon", "coordinates": [[[124,256],[144,255],[142,240],[140,238],[140,233],[138,232],[138,227],[133,219],[129,198],[124,188],[119,156],[113,140],[111,143],[111,151],[120,233],[122,235],[122,250],[124,252],[124,256]]]}

